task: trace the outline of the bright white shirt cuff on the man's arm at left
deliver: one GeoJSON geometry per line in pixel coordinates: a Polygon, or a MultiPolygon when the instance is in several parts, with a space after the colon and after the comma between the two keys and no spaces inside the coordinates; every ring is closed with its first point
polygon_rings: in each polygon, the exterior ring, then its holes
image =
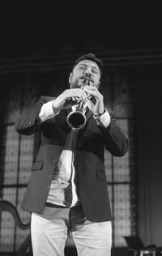
{"type": "MultiPolygon", "coordinates": [[[[60,111],[58,111],[59,113],[60,111]]],[[[46,120],[55,117],[58,113],[53,113],[53,100],[42,105],[39,113],[40,121],[45,122],[46,120]]]]}

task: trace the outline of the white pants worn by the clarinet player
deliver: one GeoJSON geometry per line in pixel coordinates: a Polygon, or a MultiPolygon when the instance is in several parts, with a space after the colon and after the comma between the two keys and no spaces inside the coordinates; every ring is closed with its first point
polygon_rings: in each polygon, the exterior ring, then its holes
{"type": "Polygon", "coordinates": [[[32,213],[33,256],[63,256],[70,231],[79,256],[111,255],[111,222],[91,222],[77,206],[45,207],[41,214],[32,213]]]}

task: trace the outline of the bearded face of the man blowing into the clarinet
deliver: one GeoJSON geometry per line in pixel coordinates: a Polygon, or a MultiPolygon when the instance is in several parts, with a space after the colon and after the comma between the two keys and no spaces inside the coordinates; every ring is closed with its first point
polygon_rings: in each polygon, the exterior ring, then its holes
{"type": "Polygon", "coordinates": [[[96,62],[83,60],[79,62],[72,73],[70,73],[69,83],[70,88],[80,87],[83,83],[83,75],[85,73],[91,75],[90,85],[99,87],[100,85],[100,69],[96,62]]]}

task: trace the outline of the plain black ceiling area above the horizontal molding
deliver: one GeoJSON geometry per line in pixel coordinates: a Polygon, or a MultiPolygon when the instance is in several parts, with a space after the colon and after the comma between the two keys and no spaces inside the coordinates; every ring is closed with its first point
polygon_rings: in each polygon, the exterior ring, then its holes
{"type": "Polygon", "coordinates": [[[162,4],[123,5],[109,1],[0,2],[0,56],[99,50],[162,49],[162,4]]]}

